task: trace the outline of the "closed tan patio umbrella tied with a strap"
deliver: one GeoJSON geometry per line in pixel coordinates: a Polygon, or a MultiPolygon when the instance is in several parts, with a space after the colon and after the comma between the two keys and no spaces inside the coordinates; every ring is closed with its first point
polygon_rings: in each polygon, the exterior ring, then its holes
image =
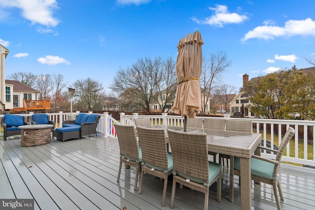
{"type": "Polygon", "coordinates": [[[173,111],[185,117],[184,131],[186,131],[187,117],[195,118],[200,113],[201,91],[199,78],[202,67],[201,34],[195,31],[181,38],[176,61],[177,90],[173,111]]]}

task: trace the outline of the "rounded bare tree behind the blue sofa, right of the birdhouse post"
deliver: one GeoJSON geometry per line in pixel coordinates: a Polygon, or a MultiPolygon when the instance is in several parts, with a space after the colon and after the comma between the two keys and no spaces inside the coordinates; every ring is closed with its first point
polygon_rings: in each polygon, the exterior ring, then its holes
{"type": "Polygon", "coordinates": [[[73,84],[75,93],[73,95],[76,104],[88,110],[101,109],[105,98],[105,91],[102,84],[91,78],[77,80],[73,84]]]}

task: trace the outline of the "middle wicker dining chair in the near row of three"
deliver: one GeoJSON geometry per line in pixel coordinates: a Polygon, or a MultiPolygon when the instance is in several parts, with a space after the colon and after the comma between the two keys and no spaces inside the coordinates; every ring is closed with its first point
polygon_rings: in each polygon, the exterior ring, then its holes
{"type": "Polygon", "coordinates": [[[173,172],[172,153],[167,152],[165,129],[137,126],[142,150],[142,172],[138,193],[141,193],[143,174],[148,173],[164,179],[162,206],[165,203],[168,176],[173,172]]]}

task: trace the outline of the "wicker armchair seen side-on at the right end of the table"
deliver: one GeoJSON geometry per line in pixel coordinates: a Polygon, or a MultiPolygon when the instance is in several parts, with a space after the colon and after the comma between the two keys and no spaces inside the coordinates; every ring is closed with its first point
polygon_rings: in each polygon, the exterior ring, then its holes
{"type": "MultiPolygon", "coordinates": [[[[267,158],[262,158],[257,155],[252,155],[251,158],[251,179],[255,182],[264,182],[271,184],[273,186],[274,195],[276,199],[277,209],[281,210],[280,201],[278,197],[277,187],[279,190],[280,198],[283,201],[284,197],[281,191],[280,182],[279,182],[279,171],[282,154],[286,148],[287,143],[290,141],[294,135],[295,130],[292,127],[289,127],[284,134],[284,138],[279,146],[278,150],[273,150],[270,148],[265,148],[258,146],[259,149],[268,150],[276,153],[276,159],[271,160],[267,158]]],[[[230,169],[230,201],[233,202],[233,184],[234,184],[234,175],[240,176],[240,158],[231,156],[231,169],[230,169]]],[[[241,192],[242,193],[242,192],[241,192]]]]}

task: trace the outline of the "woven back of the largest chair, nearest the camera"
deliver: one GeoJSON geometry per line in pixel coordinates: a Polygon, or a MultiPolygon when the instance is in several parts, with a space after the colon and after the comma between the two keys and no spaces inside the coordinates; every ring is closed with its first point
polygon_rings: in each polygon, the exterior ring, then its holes
{"type": "Polygon", "coordinates": [[[173,172],[208,180],[209,160],[206,134],[167,130],[173,155],[173,172]]]}

